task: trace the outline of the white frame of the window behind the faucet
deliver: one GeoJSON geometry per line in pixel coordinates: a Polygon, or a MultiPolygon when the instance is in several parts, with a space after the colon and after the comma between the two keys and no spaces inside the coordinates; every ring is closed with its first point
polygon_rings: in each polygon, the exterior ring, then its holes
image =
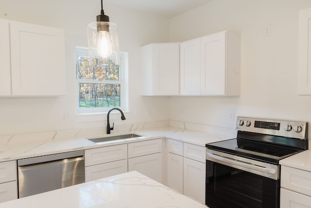
{"type": "MultiPolygon", "coordinates": [[[[88,56],[88,48],[76,46],[76,56],[77,55],[88,56]]],[[[77,71],[75,73],[76,77],[76,104],[77,104],[77,114],[79,115],[90,115],[90,114],[102,114],[107,113],[113,107],[96,107],[96,108],[81,108],[79,107],[79,83],[104,83],[104,84],[120,84],[120,108],[123,112],[128,111],[128,53],[120,52],[120,66],[119,66],[119,80],[80,80],[77,78],[77,71]]]]}

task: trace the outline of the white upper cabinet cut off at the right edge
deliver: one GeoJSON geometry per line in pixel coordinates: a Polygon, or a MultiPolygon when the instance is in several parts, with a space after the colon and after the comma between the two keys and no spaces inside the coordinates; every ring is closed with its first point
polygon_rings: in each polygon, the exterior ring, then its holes
{"type": "Polygon", "coordinates": [[[311,8],[299,12],[298,95],[311,95],[311,8]]]}

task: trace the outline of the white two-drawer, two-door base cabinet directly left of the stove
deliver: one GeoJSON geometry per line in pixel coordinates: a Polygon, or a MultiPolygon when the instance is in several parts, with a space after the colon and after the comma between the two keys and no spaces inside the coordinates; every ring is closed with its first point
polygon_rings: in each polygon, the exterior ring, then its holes
{"type": "Polygon", "coordinates": [[[167,186],[205,204],[206,148],[173,139],[166,144],[167,186]]]}

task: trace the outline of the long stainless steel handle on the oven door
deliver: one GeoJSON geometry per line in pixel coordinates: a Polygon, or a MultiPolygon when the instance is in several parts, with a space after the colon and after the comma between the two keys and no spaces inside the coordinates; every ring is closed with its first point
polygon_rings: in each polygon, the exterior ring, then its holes
{"type": "Polygon", "coordinates": [[[259,167],[259,166],[255,166],[255,165],[251,165],[251,164],[247,164],[247,163],[243,163],[243,162],[238,162],[236,160],[227,159],[227,158],[224,158],[224,157],[221,157],[221,156],[209,153],[209,152],[206,152],[206,153],[207,153],[207,155],[209,157],[211,157],[211,158],[213,158],[215,160],[223,161],[223,162],[228,163],[228,164],[232,164],[232,165],[235,165],[235,166],[240,166],[240,167],[251,169],[251,170],[257,170],[257,171],[260,171],[260,172],[266,172],[266,173],[272,173],[272,174],[276,173],[276,170],[274,170],[274,169],[263,168],[263,167],[259,167]]]}

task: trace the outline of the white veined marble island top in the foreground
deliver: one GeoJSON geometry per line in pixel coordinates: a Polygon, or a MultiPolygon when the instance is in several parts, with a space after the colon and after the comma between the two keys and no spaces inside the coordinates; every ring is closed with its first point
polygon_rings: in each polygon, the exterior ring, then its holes
{"type": "Polygon", "coordinates": [[[0,204],[0,208],[207,208],[131,171],[0,204]]]}

